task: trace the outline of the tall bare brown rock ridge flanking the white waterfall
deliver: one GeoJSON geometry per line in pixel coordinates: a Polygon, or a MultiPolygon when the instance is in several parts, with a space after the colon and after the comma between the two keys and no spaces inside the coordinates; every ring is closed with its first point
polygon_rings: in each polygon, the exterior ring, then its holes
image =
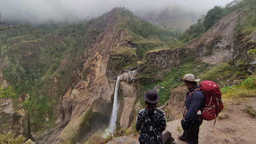
{"type": "MultiPolygon", "coordinates": [[[[82,79],[73,90],[68,90],[63,96],[62,113],[65,113],[65,116],[60,115],[58,120],[60,123],[70,121],[60,135],[56,136],[58,143],[77,142],[81,140],[81,137],[85,137],[85,140],[90,137],[91,133],[108,125],[116,82],[116,77],[113,77],[109,65],[111,51],[114,47],[128,45],[128,41],[125,40],[127,32],[118,30],[120,24],[115,16],[118,10],[114,8],[100,23],[96,24],[100,28],[105,27],[104,32],[96,37],[93,47],[88,52],[89,56],[82,70],[82,79]],[[87,78],[83,78],[85,75],[87,78]]],[[[133,104],[138,99],[134,84],[123,86],[126,79],[127,77],[124,76],[120,82],[120,94],[122,95],[120,104],[122,106],[120,106],[119,118],[123,126],[128,126],[132,110],[134,110],[133,104]],[[130,97],[131,93],[134,93],[132,97],[130,97]]],[[[48,142],[53,141],[51,139],[48,142]]]]}

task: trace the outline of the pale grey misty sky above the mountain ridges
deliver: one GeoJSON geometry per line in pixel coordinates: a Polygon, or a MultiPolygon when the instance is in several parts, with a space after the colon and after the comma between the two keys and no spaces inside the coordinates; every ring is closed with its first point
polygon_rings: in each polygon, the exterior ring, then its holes
{"type": "Polygon", "coordinates": [[[1,0],[1,21],[12,20],[47,23],[48,21],[77,22],[87,16],[94,18],[115,7],[125,7],[134,14],[166,7],[202,13],[215,5],[225,6],[232,0],[1,0]]]}

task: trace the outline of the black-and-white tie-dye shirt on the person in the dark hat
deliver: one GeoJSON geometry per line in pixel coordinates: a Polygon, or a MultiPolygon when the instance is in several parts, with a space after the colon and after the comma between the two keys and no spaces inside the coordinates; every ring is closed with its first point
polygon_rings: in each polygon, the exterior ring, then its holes
{"type": "Polygon", "coordinates": [[[166,129],[165,113],[157,108],[154,109],[152,120],[146,115],[146,110],[140,110],[136,122],[143,124],[140,129],[140,139],[146,144],[162,144],[162,130],[166,129]],[[153,119],[155,126],[153,127],[153,119]]]}

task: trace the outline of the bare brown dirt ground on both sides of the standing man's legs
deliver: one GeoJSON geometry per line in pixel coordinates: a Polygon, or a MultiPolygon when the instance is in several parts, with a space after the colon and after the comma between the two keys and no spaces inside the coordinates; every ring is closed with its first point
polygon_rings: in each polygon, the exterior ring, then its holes
{"type": "MultiPolygon", "coordinates": [[[[199,144],[255,144],[256,143],[256,119],[248,115],[248,105],[256,106],[256,98],[244,98],[241,104],[237,102],[225,103],[225,110],[220,113],[213,130],[214,120],[206,121],[200,126],[199,144]]],[[[187,144],[178,140],[182,132],[177,130],[180,120],[167,123],[167,130],[178,144],[187,144]]]]}

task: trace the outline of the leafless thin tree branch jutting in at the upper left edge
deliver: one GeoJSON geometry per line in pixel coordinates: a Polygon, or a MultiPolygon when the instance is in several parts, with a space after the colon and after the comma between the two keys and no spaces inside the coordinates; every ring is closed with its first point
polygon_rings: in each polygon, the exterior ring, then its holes
{"type": "Polygon", "coordinates": [[[8,23],[7,21],[1,22],[1,12],[0,12],[0,31],[5,31],[7,34],[12,36],[10,33],[16,34],[15,32],[12,31],[12,29],[19,29],[20,34],[25,38],[23,30],[28,30],[30,33],[36,34],[39,36],[40,32],[36,31],[34,28],[32,28],[31,25],[21,25],[21,26],[14,26],[11,23],[8,23]],[[22,28],[24,28],[22,30],[22,28]]]}

